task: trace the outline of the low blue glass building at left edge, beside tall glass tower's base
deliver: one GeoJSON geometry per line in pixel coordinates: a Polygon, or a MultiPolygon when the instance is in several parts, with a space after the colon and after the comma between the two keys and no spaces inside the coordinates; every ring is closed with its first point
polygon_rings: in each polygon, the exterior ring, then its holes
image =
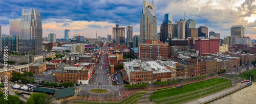
{"type": "Polygon", "coordinates": [[[5,46],[8,47],[8,50],[12,52],[18,52],[18,34],[12,36],[2,36],[2,49],[5,46]]]}

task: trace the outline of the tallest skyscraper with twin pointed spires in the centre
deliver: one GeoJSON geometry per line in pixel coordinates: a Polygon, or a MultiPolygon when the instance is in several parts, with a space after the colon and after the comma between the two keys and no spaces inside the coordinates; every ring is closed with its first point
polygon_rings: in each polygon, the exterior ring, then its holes
{"type": "Polygon", "coordinates": [[[145,43],[145,40],[157,40],[157,17],[154,3],[150,4],[143,0],[140,19],[140,43],[145,43]]]}

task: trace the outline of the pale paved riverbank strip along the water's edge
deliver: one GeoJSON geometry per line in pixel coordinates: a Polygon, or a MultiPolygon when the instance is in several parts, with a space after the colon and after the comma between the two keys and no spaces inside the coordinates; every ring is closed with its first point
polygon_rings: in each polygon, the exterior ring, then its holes
{"type": "MultiPolygon", "coordinates": [[[[210,95],[205,95],[197,100],[192,100],[192,101],[188,101],[185,102],[186,104],[200,104],[200,103],[209,103],[211,101],[217,100],[219,98],[222,98],[226,95],[229,95],[233,92],[236,92],[238,90],[241,90],[247,86],[250,86],[251,84],[246,85],[246,83],[237,83],[236,86],[232,86],[223,90],[220,90],[218,92],[212,93],[210,95]]],[[[184,102],[183,102],[184,103],[184,102]]]]}

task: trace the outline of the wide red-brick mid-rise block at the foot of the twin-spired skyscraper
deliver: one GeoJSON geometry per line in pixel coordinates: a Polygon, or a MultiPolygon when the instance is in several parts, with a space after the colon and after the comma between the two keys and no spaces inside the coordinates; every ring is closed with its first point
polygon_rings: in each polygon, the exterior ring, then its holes
{"type": "Polygon", "coordinates": [[[153,56],[161,56],[162,58],[168,59],[168,44],[162,44],[159,41],[156,42],[145,41],[144,44],[139,44],[139,59],[151,60],[153,56]]]}

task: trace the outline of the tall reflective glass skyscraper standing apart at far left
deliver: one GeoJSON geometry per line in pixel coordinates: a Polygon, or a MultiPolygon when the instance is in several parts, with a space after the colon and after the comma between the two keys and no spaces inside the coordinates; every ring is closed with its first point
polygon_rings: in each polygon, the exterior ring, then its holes
{"type": "Polygon", "coordinates": [[[42,22],[39,10],[22,10],[18,38],[19,53],[42,55],[42,22]]]}

